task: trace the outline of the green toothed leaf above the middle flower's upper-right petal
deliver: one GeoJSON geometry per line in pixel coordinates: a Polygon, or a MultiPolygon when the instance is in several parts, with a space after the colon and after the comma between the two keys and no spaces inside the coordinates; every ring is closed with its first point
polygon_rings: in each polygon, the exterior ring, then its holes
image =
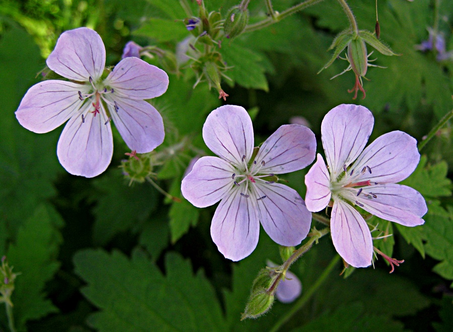
{"type": "Polygon", "coordinates": [[[242,46],[239,40],[224,43],[220,49],[227,66],[225,74],[244,88],[269,91],[265,72],[273,72],[273,66],[263,53],[242,46]]]}

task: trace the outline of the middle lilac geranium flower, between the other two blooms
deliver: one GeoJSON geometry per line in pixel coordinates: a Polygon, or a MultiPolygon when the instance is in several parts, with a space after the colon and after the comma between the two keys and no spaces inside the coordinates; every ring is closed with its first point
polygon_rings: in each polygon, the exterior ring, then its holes
{"type": "Polygon", "coordinates": [[[211,224],[219,251],[232,261],[250,255],[260,221],[277,243],[299,244],[310,228],[311,213],[295,190],[274,181],[276,174],[303,169],[314,159],[311,130],[281,126],[254,153],[249,115],[240,106],[225,105],[208,115],[203,138],[220,158],[201,157],[182,180],[181,191],[197,207],[220,201],[211,224]]]}

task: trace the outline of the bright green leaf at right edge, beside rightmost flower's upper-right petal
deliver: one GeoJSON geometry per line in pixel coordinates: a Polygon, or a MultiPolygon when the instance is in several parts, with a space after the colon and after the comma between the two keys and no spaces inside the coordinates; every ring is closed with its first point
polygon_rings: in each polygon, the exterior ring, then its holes
{"type": "Polygon", "coordinates": [[[427,157],[422,155],[414,173],[401,182],[414,188],[426,197],[451,196],[451,180],[447,178],[448,165],[445,161],[430,165],[427,157]]]}

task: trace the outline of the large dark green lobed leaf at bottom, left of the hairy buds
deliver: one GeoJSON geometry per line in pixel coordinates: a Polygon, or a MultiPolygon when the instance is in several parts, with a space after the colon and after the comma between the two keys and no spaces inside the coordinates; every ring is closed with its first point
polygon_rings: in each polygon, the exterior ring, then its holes
{"type": "Polygon", "coordinates": [[[88,323],[100,331],[226,330],[211,284],[177,254],[167,254],[167,275],[143,254],[84,250],[74,257],[82,289],[99,311],[88,323]]]}

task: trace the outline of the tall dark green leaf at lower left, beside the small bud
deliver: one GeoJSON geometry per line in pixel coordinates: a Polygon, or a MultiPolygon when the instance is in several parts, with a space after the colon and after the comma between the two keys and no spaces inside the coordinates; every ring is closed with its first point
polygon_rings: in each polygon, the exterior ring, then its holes
{"type": "Polygon", "coordinates": [[[58,309],[46,299],[45,283],[59,268],[56,261],[62,242],[58,227],[61,217],[52,208],[41,205],[19,228],[17,240],[8,249],[8,261],[14,272],[20,272],[15,281],[12,301],[14,317],[19,330],[30,319],[38,319],[58,309]]]}

